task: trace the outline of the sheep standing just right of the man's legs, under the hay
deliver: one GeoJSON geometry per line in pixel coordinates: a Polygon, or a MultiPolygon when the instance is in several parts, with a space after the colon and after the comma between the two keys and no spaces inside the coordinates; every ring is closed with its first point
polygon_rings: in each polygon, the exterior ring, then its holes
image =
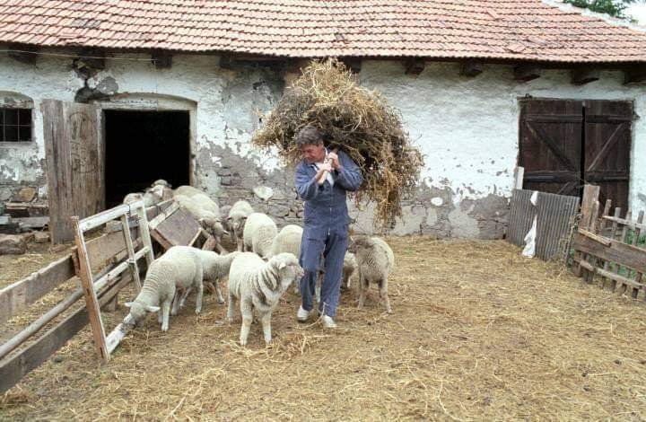
{"type": "Polygon", "coordinates": [[[380,297],[386,304],[386,312],[392,313],[388,299],[388,274],[395,265],[395,255],[379,237],[357,236],[353,242],[357,268],[359,269],[359,309],[363,309],[370,282],[380,286],[380,297]]]}

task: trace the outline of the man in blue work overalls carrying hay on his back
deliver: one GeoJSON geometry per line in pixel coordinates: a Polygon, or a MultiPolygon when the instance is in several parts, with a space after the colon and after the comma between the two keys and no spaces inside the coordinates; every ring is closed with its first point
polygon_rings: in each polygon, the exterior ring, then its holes
{"type": "Polygon", "coordinates": [[[325,258],[325,276],[321,286],[319,313],[327,328],[335,328],[336,306],[347,249],[350,216],[345,192],[362,184],[359,167],[343,151],[328,151],[316,127],[303,127],[296,136],[303,160],[296,167],[295,185],[305,201],[300,264],[301,307],[296,319],[308,320],[313,308],[312,296],[319,276],[321,256],[325,258]]]}

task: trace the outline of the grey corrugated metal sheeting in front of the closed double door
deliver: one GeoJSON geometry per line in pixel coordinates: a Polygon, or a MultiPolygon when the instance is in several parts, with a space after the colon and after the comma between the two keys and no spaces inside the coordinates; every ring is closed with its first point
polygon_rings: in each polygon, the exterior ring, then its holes
{"type": "Polygon", "coordinates": [[[537,206],[534,207],[529,201],[533,193],[533,190],[514,189],[507,240],[524,246],[525,234],[537,215],[537,257],[545,260],[557,258],[563,252],[570,225],[579,212],[579,198],[539,192],[537,206]]]}

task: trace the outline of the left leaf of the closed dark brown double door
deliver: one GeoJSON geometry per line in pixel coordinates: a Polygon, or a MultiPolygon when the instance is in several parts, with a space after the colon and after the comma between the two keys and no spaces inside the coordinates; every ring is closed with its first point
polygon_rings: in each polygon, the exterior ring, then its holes
{"type": "Polygon", "coordinates": [[[579,196],[582,101],[521,101],[520,113],[523,188],[579,196]]]}

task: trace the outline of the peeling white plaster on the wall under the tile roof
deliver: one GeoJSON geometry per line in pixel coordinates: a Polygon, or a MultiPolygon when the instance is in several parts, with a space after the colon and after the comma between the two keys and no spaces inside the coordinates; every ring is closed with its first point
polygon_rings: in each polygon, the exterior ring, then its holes
{"type": "MultiPolygon", "coordinates": [[[[194,154],[220,145],[266,171],[276,168],[275,154],[258,152],[249,145],[258,126],[255,112],[270,110],[275,102],[272,92],[245,91],[256,82],[261,90],[267,89],[263,85],[266,75],[261,71],[250,70],[240,79],[238,70],[220,68],[214,56],[174,56],[172,67],[163,70],[156,69],[145,54],[115,58],[107,60],[106,70],[96,80],[89,81],[91,87],[113,78],[117,91],[125,94],[121,98],[127,100],[123,101],[136,102],[137,94],[142,94],[140,101],[147,108],[165,108],[168,99],[192,104],[196,119],[192,129],[194,154]]],[[[71,57],[40,56],[36,66],[31,66],[2,55],[0,91],[30,97],[36,110],[46,98],[74,101],[83,81],[71,69],[71,63],[71,57]]],[[[475,78],[460,76],[458,64],[428,64],[417,76],[405,75],[403,70],[399,61],[364,60],[360,80],[364,86],[383,92],[401,110],[406,128],[425,156],[423,182],[450,189],[455,206],[464,198],[511,195],[518,159],[520,97],[633,100],[637,115],[646,112],[646,88],[624,86],[620,72],[604,72],[598,82],[575,86],[570,84],[567,71],[544,71],[541,78],[523,84],[513,80],[511,66],[485,66],[483,74],[475,78]]],[[[34,119],[34,154],[41,159],[44,147],[39,112],[34,119]]],[[[644,119],[635,120],[630,200],[633,207],[646,208],[646,197],[640,195],[646,193],[646,168],[640,165],[646,159],[645,134],[644,119]]],[[[7,158],[11,151],[0,145],[3,163],[11,162],[7,158]]],[[[211,159],[214,165],[219,163],[217,156],[211,159]]],[[[467,213],[468,209],[462,211],[467,213]]],[[[455,219],[463,217],[457,215],[455,219]]]]}

